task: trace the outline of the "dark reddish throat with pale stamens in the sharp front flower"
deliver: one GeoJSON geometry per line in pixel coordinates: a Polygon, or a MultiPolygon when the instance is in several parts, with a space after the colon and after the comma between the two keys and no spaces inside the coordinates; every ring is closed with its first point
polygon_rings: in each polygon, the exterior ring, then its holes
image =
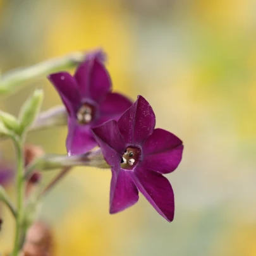
{"type": "Polygon", "coordinates": [[[131,170],[140,159],[140,149],[128,147],[121,158],[121,168],[131,170]]]}

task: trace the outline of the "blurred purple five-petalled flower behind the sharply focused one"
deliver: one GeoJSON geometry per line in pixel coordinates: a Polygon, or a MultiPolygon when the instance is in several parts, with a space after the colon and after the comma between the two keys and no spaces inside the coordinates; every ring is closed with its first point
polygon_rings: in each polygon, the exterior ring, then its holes
{"type": "Polygon", "coordinates": [[[90,52],[75,75],[55,73],[49,80],[58,90],[69,114],[68,154],[83,154],[97,146],[91,128],[109,119],[118,119],[131,102],[111,92],[111,78],[104,66],[102,51],[90,52]]]}

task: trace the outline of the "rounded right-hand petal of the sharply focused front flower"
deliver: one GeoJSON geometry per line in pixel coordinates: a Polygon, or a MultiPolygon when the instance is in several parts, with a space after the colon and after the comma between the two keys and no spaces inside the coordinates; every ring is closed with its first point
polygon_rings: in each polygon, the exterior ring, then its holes
{"type": "Polygon", "coordinates": [[[180,164],[183,145],[169,131],[155,129],[143,145],[143,168],[171,173],[180,164]]]}

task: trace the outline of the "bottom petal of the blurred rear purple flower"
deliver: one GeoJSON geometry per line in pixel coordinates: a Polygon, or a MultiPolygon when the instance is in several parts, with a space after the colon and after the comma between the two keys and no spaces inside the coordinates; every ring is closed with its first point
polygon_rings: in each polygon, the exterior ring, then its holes
{"type": "Polygon", "coordinates": [[[83,154],[97,146],[90,128],[90,125],[79,125],[75,119],[69,118],[66,138],[66,149],[69,155],[83,154]]]}

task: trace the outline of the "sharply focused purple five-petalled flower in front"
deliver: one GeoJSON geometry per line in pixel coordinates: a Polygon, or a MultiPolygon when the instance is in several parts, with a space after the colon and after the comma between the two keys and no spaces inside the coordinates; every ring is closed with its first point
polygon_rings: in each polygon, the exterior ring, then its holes
{"type": "Polygon", "coordinates": [[[140,191],[162,217],[173,221],[173,189],[162,174],[178,167],[183,145],[173,133],[154,127],[152,107],[138,96],[118,121],[92,129],[111,166],[110,213],[135,204],[140,191]]]}

